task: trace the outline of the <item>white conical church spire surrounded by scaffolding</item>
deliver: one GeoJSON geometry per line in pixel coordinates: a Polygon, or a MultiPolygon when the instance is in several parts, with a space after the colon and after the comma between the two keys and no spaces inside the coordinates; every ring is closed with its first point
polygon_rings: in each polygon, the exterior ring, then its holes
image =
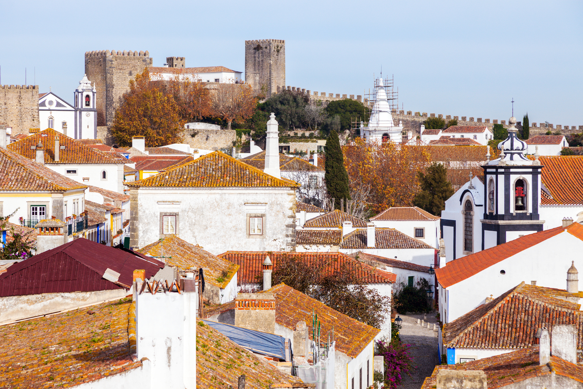
{"type": "Polygon", "coordinates": [[[375,80],[375,100],[368,125],[365,126],[364,123],[360,124],[360,135],[365,142],[384,143],[392,141],[401,143],[403,126],[401,124],[395,126],[393,122],[391,106],[389,105],[389,98],[385,88],[385,82],[382,78],[375,80]]]}

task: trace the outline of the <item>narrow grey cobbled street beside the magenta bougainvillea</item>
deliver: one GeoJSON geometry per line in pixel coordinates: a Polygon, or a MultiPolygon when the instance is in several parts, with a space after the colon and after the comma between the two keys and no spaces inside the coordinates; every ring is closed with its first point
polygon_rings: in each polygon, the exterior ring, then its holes
{"type": "Polygon", "coordinates": [[[430,323],[430,328],[427,328],[417,324],[417,319],[424,320],[423,314],[400,316],[403,319],[400,332],[401,340],[403,344],[412,345],[411,355],[415,369],[410,378],[405,376],[399,388],[419,389],[423,385],[425,377],[431,376],[433,368],[439,364],[437,331],[433,331],[433,324],[437,323],[437,320],[435,313],[428,313],[425,322],[430,323]]]}

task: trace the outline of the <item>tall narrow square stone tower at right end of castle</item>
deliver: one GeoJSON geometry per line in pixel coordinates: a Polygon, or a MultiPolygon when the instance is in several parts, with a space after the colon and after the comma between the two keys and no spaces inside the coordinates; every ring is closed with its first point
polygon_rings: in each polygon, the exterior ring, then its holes
{"type": "Polygon", "coordinates": [[[245,83],[253,93],[265,97],[286,85],[286,41],[262,39],[245,41],[245,83]]]}

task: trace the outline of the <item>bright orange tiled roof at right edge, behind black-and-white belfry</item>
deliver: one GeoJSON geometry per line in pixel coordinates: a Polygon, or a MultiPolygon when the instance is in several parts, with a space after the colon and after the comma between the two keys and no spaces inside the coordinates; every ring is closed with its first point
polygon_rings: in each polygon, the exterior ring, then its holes
{"type": "Polygon", "coordinates": [[[583,156],[545,156],[539,158],[543,185],[541,205],[583,204],[583,156]]]}

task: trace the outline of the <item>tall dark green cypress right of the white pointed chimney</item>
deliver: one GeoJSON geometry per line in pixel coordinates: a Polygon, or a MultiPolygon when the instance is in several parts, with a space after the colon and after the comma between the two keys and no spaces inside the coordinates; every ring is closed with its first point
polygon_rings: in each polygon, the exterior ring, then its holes
{"type": "MultiPolygon", "coordinates": [[[[340,199],[349,199],[350,193],[348,191],[348,173],[344,167],[344,156],[342,149],[340,149],[340,139],[335,130],[331,130],[326,139],[326,174],[324,181],[326,181],[326,189],[328,190],[328,197],[333,198],[334,208],[340,208],[340,199]]],[[[346,201],[346,200],[345,200],[346,201]]]]}

